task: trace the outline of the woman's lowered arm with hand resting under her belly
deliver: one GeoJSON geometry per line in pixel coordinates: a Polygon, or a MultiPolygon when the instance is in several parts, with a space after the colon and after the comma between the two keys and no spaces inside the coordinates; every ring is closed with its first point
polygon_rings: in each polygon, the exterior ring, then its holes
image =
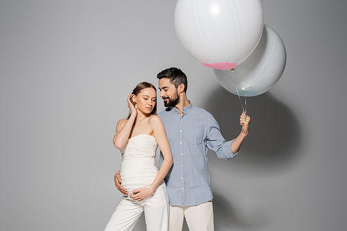
{"type": "Polygon", "coordinates": [[[155,139],[158,142],[158,146],[160,147],[160,151],[162,151],[162,156],[164,157],[164,161],[162,162],[162,166],[160,166],[160,170],[158,175],[153,180],[151,187],[147,189],[136,189],[133,191],[133,196],[130,196],[134,200],[144,200],[151,194],[155,192],[155,190],[160,185],[160,182],[167,176],[171,166],[172,166],[172,155],[171,149],[169,146],[169,142],[167,141],[167,134],[164,129],[164,125],[162,124],[162,120],[157,116],[153,115],[149,119],[149,125],[153,128],[153,134],[155,139]]]}

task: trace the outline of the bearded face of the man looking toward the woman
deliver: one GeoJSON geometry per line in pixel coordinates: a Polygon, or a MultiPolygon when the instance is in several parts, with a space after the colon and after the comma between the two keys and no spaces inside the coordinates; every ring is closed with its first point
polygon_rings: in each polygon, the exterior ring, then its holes
{"type": "Polygon", "coordinates": [[[165,107],[175,107],[180,101],[180,95],[174,84],[169,78],[159,80],[160,97],[164,100],[165,107]]]}

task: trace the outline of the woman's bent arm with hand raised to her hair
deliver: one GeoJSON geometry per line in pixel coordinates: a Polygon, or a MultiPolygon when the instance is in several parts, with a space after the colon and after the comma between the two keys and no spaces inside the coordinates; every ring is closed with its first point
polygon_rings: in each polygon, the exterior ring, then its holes
{"type": "Polygon", "coordinates": [[[116,134],[115,137],[113,137],[113,144],[115,144],[115,147],[118,149],[123,148],[124,144],[129,139],[130,132],[133,129],[133,125],[137,116],[137,110],[135,109],[133,103],[131,103],[130,98],[133,96],[133,94],[130,94],[128,96],[128,108],[130,109],[130,117],[129,119],[121,119],[118,121],[116,126],[116,134]]]}

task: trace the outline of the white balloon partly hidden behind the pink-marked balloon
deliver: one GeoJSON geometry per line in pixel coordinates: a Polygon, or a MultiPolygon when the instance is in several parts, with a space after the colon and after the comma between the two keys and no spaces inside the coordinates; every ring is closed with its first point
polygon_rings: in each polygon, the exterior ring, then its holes
{"type": "Polygon", "coordinates": [[[235,71],[214,69],[219,83],[232,94],[257,96],[267,92],[277,83],[285,71],[287,53],[280,35],[270,26],[264,25],[259,44],[235,71]],[[236,87],[237,90],[236,90],[236,87]]]}

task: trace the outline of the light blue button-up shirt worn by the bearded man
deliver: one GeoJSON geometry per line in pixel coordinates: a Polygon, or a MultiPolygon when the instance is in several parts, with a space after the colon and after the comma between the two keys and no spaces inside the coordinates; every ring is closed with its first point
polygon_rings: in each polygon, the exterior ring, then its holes
{"type": "MultiPolygon", "coordinates": [[[[174,164],[165,177],[170,205],[200,205],[212,200],[208,174],[208,148],[223,160],[233,154],[232,141],[226,142],[212,114],[193,107],[183,108],[181,116],[176,108],[158,114],[164,123],[174,164]]],[[[162,153],[159,165],[162,166],[162,153]]]]}

